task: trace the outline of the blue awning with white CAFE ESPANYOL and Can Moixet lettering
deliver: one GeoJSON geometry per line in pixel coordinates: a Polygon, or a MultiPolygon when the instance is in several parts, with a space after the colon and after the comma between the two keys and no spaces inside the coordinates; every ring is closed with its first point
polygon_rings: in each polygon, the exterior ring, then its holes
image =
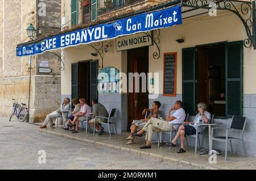
{"type": "Polygon", "coordinates": [[[175,6],[161,11],[148,12],[130,18],[120,19],[109,24],[100,24],[98,26],[48,37],[40,43],[19,46],[16,48],[16,56],[31,56],[49,50],[110,40],[119,36],[167,28],[181,23],[181,6],[175,6]]]}

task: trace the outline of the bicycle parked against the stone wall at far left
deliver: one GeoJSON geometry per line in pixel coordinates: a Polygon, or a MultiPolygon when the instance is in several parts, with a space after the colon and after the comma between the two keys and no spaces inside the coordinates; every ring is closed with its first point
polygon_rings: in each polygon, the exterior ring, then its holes
{"type": "Polygon", "coordinates": [[[11,100],[14,100],[15,102],[13,103],[13,110],[11,111],[11,116],[9,121],[11,121],[11,118],[13,117],[13,115],[15,115],[20,122],[24,122],[27,116],[27,108],[25,107],[26,104],[21,103],[22,106],[20,107],[20,104],[16,102],[15,99],[11,99],[11,100]],[[19,110],[19,107],[20,107],[20,110],[19,110]]]}

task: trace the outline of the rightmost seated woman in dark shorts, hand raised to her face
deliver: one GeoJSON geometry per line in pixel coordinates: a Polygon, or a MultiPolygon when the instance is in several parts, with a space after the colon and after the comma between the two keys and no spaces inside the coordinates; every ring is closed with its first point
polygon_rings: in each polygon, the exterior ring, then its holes
{"type": "MultiPolygon", "coordinates": [[[[196,115],[193,122],[183,122],[183,125],[179,127],[179,130],[177,131],[177,134],[174,138],[174,140],[171,141],[170,144],[167,144],[167,146],[177,146],[177,139],[180,137],[180,149],[177,151],[177,153],[184,153],[185,150],[185,136],[188,134],[196,134],[196,127],[199,124],[207,124],[210,119],[210,113],[206,111],[207,106],[205,103],[199,103],[197,104],[197,111],[199,113],[196,115]]],[[[198,127],[197,131],[200,132],[203,127],[198,127]]]]}

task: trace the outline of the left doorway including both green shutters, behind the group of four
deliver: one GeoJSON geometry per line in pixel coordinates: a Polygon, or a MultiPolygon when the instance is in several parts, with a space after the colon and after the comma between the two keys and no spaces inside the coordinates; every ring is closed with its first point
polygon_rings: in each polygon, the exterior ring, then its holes
{"type": "Polygon", "coordinates": [[[92,106],[92,99],[98,98],[98,61],[81,61],[72,64],[72,99],[85,98],[92,106]]]}

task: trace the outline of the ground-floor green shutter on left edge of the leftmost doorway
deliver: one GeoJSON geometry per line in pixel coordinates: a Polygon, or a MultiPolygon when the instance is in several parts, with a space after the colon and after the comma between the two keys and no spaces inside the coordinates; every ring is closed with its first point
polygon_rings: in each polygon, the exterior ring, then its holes
{"type": "Polygon", "coordinates": [[[78,99],[79,95],[79,79],[78,79],[78,63],[71,64],[71,99],[78,99]]]}

